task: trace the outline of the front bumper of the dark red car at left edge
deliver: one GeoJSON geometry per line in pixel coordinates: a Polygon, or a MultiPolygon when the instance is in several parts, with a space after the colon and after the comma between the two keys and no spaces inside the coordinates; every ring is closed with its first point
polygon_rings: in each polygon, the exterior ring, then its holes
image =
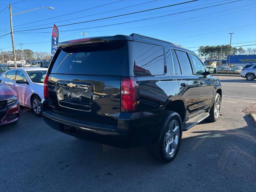
{"type": "Polygon", "coordinates": [[[6,106],[0,110],[0,126],[12,124],[20,118],[20,105],[17,101],[12,106],[6,106]]]}

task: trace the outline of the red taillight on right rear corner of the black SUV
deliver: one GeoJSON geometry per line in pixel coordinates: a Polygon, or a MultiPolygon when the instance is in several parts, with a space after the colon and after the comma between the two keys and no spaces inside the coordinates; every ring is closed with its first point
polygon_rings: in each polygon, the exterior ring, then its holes
{"type": "Polygon", "coordinates": [[[135,112],[138,103],[138,84],[134,77],[122,78],[121,112],[135,112]]]}

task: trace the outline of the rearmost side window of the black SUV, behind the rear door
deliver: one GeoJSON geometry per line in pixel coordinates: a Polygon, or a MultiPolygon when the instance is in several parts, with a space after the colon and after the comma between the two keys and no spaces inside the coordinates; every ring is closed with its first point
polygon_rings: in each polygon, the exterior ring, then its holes
{"type": "Polygon", "coordinates": [[[162,46],[134,42],[134,74],[137,76],[164,74],[164,50],[162,46]]]}

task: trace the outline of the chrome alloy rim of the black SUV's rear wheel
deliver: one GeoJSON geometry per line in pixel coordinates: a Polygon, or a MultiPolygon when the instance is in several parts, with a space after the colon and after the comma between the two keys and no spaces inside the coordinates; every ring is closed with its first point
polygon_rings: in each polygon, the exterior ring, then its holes
{"type": "Polygon", "coordinates": [[[180,126],[177,120],[172,120],[164,137],[164,149],[169,156],[172,156],[178,146],[180,138],[180,126]]]}

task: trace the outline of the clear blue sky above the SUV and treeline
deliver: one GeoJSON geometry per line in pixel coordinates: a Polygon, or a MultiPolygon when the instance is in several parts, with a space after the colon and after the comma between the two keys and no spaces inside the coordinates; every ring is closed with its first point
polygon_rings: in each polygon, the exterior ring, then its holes
{"type": "MultiPolygon", "coordinates": [[[[18,1],[20,0],[1,0],[0,11],[6,8],[9,3],[15,3],[18,1]]],[[[75,22],[94,20],[98,18],[167,6],[170,4],[186,1],[188,0],[25,0],[12,5],[13,14],[38,7],[51,6],[54,7],[54,10],[41,9],[13,16],[13,26],[14,32],[17,30],[52,27],[53,23],[56,23],[56,26],[59,26],[63,24],[71,24],[75,22]],[[108,5],[100,6],[103,4],[108,5]],[[95,6],[100,7],[92,8],[95,6]],[[132,7],[124,8],[127,6],[132,7]],[[89,10],[80,11],[84,9],[89,10]],[[76,11],[80,12],[69,14],[76,11]],[[52,18],[63,14],[69,15],[52,18]],[[38,22],[39,20],[44,21],[38,22]]],[[[187,4],[122,16],[118,18],[86,22],[70,26],[62,26],[58,27],[59,42],[82,38],[83,36],[80,34],[80,32],[86,32],[87,37],[108,36],[115,34],[129,35],[131,33],[138,33],[174,42],[194,51],[197,50],[199,46],[229,44],[230,35],[228,33],[234,32],[232,36],[232,46],[256,44],[256,0],[241,0],[238,2],[214,6],[211,8],[194,10],[231,1],[234,0],[199,0],[187,4]],[[187,10],[194,11],[174,14],[187,10]],[[164,16],[167,14],[173,15],[164,16]],[[142,20],[157,16],[161,17],[142,20]],[[142,21],[134,22],[134,20],[142,21]],[[130,23],[117,24],[122,22],[130,23]],[[110,24],[116,25],[102,27],[104,25],[110,24]],[[72,31],[65,32],[64,30],[72,31]]],[[[0,13],[0,31],[0,36],[10,32],[9,10],[7,8],[0,13]]],[[[50,52],[51,31],[52,29],[48,28],[24,31],[22,33],[16,32],[14,33],[14,42],[16,46],[15,48],[20,48],[18,43],[24,43],[22,46],[23,49],[31,49],[34,52],[50,52]]],[[[244,46],[243,48],[246,49],[249,47],[256,48],[255,45],[244,46]]],[[[0,37],[0,48],[3,51],[12,50],[10,34],[0,37]]]]}

